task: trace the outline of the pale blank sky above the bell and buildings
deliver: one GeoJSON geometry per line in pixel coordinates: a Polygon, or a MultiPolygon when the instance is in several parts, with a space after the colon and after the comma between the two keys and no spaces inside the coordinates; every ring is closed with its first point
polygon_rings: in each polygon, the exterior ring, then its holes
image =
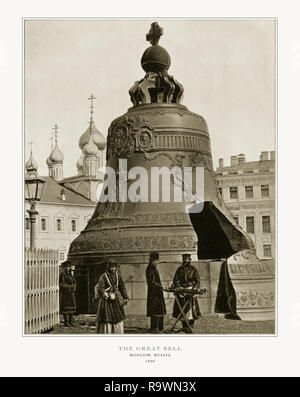
{"type": "MultiPolygon", "coordinates": [[[[27,20],[24,34],[25,159],[48,175],[50,136],[58,124],[64,176],[76,175],[78,140],[88,127],[91,93],[94,120],[107,136],[110,123],[132,106],[129,88],[144,77],[140,59],[150,45],[150,19],[27,20]]],[[[157,19],[159,44],[171,57],[169,74],[184,87],[181,103],[203,116],[214,167],[244,153],[257,161],[275,150],[275,22],[157,19]]]]}

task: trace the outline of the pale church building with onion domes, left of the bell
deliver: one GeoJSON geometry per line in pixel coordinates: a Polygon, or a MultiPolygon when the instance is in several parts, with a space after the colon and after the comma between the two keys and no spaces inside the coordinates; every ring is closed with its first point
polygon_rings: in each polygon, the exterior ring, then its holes
{"type": "MultiPolygon", "coordinates": [[[[59,251],[60,261],[67,258],[71,242],[85,228],[92,216],[97,202],[97,187],[103,182],[99,169],[104,162],[106,146],[104,136],[97,130],[93,120],[93,100],[88,129],[79,139],[82,155],[77,161],[78,174],[64,178],[64,155],[58,147],[57,125],[55,125],[54,146],[46,160],[49,176],[42,176],[45,181],[41,200],[37,205],[36,247],[52,248],[59,251]]],[[[38,165],[32,152],[26,163],[26,171],[37,172],[38,165]]],[[[25,246],[29,246],[30,223],[25,202],[25,246]]]]}

